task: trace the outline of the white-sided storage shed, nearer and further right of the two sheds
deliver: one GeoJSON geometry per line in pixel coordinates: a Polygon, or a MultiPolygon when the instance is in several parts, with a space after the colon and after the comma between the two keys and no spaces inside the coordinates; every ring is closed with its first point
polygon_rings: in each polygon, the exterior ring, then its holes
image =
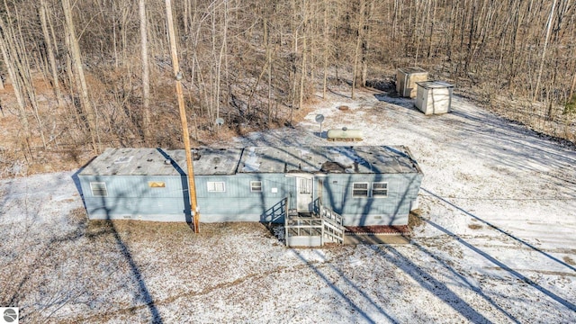
{"type": "Polygon", "coordinates": [[[442,81],[417,82],[416,107],[424,114],[450,112],[454,85],[442,81]]]}

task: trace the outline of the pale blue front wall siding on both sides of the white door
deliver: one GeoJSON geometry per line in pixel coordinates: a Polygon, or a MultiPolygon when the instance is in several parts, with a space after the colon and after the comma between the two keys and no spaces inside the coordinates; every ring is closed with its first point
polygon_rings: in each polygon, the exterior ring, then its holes
{"type": "MultiPolygon", "coordinates": [[[[345,225],[407,224],[410,203],[418,196],[421,178],[421,174],[329,174],[316,177],[314,196],[318,196],[320,181],[322,203],[342,214],[345,225]],[[370,185],[387,182],[388,197],[352,197],[352,184],[356,182],[370,185]]],[[[133,219],[142,220],[185,220],[185,176],[82,175],[79,179],[91,219],[123,219],[133,215],[133,219]],[[90,182],[105,183],[108,196],[94,197],[90,182]],[[165,187],[152,188],[148,182],[163,182],[165,187]]],[[[202,222],[270,221],[273,218],[270,209],[278,208],[284,198],[288,198],[291,206],[296,203],[296,177],[284,174],[198,175],[195,184],[202,222]],[[225,192],[208,192],[209,181],[224,182],[225,192]],[[251,181],[262,181],[261,193],[250,191],[251,181]]]]}

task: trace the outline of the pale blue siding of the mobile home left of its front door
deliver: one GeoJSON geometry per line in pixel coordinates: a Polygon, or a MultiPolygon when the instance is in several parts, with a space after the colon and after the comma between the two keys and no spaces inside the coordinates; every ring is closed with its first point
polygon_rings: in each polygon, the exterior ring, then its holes
{"type": "MultiPolygon", "coordinates": [[[[294,185],[285,183],[285,175],[277,174],[197,175],[194,180],[203,222],[266,221],[266,211],[294,192],[294,185]],[[250,191],[251,181],[262,182],[262,193],[250,191]],[[208,192],[208,182],[223,182],[225,192],[208,192]]],[[[185,221],[185,176],[82,176],[81,185],[92,219],[185,221]],[[108,195],[94,197],[93,182],[104,183],[108,195]],[[164,182],[166,187],[150,188],[148,182],[164,182]]]]}

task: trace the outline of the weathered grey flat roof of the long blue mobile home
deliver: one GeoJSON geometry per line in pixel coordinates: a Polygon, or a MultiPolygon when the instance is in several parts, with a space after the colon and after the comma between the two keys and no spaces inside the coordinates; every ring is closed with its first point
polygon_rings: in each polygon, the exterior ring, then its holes
{"type": "MultiPolygon", "coordinates": [[[[195,148],[194,175],[421,172],[403,146],[195,148]]],[[[184,175],[184,149],[107,148],[79,175],[184,175]]]]}

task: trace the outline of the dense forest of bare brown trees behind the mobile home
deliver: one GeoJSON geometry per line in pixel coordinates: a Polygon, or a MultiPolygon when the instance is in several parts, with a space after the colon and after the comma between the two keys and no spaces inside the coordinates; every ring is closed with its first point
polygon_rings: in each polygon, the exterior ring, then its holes
{"type": "MultiPolygon", "coordinates": [[[[385,85],[395,68],[407,66],[426,68],[511,119],[574,140],[572,0],[172,6],[196,145],[219,132],[291,124],[312,94],[338,85],[354,97],[355,88],[385,85]],[[226,121],[221,128],[217,118],[226,121]]],[[[0,50],[0,163],[41,163],[46,152],[181,146],[164,2],[3,0],[0,50]]]]}

